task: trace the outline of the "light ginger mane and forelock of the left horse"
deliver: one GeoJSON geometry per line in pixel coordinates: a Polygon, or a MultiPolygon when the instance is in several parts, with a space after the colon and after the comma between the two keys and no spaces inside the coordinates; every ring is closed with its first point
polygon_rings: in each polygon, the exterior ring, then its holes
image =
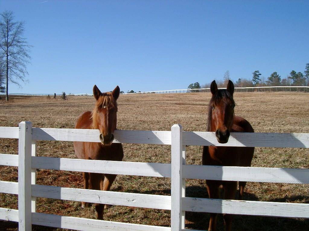
{"type": "Polygon", "coordinates": [[[114,99],[112,92],[102,93],[95,103],[95,108],[91,112],[92,125],[91,129],[99,129],[97,121],[97,109],[103,107],[117,107],[117,102],[114,99]]]}

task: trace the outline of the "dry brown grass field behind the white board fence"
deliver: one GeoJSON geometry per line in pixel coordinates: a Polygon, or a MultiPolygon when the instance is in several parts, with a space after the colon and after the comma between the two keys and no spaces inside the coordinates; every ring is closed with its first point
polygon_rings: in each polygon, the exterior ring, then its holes
{"type": "MultiPolygon", "coordinates": [[[[235,115],[246,118],[256,132],[309,133],[309,94],[303,92],[235,93],[235,115]]],[[[118,99],[118,129],[170,130],[181,124],[185,131],[206,131],[210,93],[121,95],[118,99]]],[[[14,98],[0,102],[0,126],[18,126],[31,121],[33,127],[74,128],[79,114],[92,110],[91,97],[68,100],[46,97],[14,98]]],[[[17,154],[18,141],[0,139],[0,153],[17,154]]],[[[39,141],[38,156],[76,158],[73,142],[39,141]]],[[[170,146],[124,144],[124,161],[170,163],[170,146]]],[[[187,163],[201,164],[202,148],[187,147],[187,163]]],[[[254,167],[309,168],[309,150],[302,148],[256,148],[254,167]]],[[[17,168],[0,166],[0,180],[17,181],[17,168]]],[[[38,169],[38,184],[83,188],[80,172],[38,169]]],[[[112,191],[170,195],[170,179],[117,176],[112,191]]],[[[309,203],[309,187],[300,184],[248,182],[244,200],[309,203]]],[[[187,180],[186,195],[208,197],[204,180],[187,180]]],[[[95,218],[94,206],[81,209],[80,202],[37,198],[38,212],[95,218]]],[[[17,209],[17,196],[0,193],[0,207],[17,209]]],[[[112,206],[104,219],[147,225],[170,225],[170,211],[112,206]]],[[[207,213],[186,213],[188,229],[208,228],[207,213]]],[[[17,230],[17,223],[0,221],[0,230],[17,230]]],[[[309,220],[234,216],[233,230],[308,230],[309,220]]],[[[33,225],[34,230],[62,230],[33,225]]],[[[223,230],[222,215],[218,230],[223,230]]]]}

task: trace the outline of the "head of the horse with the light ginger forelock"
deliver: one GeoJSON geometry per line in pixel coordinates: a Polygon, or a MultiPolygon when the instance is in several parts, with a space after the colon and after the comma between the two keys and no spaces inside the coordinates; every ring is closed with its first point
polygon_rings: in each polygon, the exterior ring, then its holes
{"type": "Polygon", "coordinates": [[[120,88],[117,86],[112,92],[101,93],[93,87],[93,95],[96,102],[95,110],[92,113],[93,128],[99,129],[99,139],[103,145],[111,145],[114,140],[114,131],[117,125],[117,103],[120,88]]]}

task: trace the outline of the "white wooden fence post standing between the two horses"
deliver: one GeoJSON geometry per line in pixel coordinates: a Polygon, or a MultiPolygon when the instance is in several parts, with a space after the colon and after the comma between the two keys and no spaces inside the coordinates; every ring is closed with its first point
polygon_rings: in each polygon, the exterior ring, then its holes
{"type": "Polygon", "coordinates": [[[171,231],[184,229],[184,211],[182,197],[184,194],[182,179],[183,144],[182,126],[174,124],[171,127],[171,231]]]}

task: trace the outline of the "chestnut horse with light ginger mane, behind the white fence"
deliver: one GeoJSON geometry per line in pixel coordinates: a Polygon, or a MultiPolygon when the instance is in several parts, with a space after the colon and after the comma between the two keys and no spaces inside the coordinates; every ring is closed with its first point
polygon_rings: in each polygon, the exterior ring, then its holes
{"type": "MultiPolygon", "coordinates": [[[[85,160],[116,160],[123,158],[122,145],[112,143],[113,132],[117,124],[117,103],[120,88],[117,86],[112,92],[101,93],[98,87],[93,87],[93,95],[96,99],[93,111],[85,111],[76,122],[75,128],[99,129],[100,143],[74,142],[75,155],[78,159],[85,160]]],[[[116,178],[116,175],[83,172],[84,188],[108,191],[116,178]]],[[[82,202],[82,207],[87,206],[82,202]]],[[[95,204],[97,219],[103,219],[103,204],[95,204]]]]}

